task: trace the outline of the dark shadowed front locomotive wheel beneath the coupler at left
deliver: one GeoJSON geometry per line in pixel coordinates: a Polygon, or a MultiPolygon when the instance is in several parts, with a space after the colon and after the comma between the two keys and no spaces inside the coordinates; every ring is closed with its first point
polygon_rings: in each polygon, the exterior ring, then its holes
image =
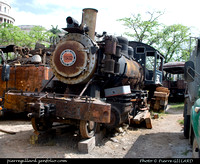
{"type": "Polygon", "coordinates": [[[52,128],[52,122],[50,120],[44,120],[40,118],[32,118],[31,123],[35,131],[46,131],[52,128]]]}

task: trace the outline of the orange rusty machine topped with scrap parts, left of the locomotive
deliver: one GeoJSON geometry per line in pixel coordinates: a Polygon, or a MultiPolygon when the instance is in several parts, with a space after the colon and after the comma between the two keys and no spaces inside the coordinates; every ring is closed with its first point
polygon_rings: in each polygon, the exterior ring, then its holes
{"type": "Polygon", "coordinates": [[[6,101],[12,101],[5,98],[7,91],[38,92],[43,88],[44,83],[52,77],[53,72],[46,60],[49,55],[47,52],[51,50],[45,50],[44,46],[39,43],[35,47],[34,50],[30,50],[16,45],[0,46],[0,108],[2,109],[0,116],[8,111],[9,113],[25,111],[25,109],[18,110],[15,107],[17,105],[12,103],[9,107],[4,108],[6,101]],[[14,59],[8,60],[8,53],[13,53],[14,59]]]}

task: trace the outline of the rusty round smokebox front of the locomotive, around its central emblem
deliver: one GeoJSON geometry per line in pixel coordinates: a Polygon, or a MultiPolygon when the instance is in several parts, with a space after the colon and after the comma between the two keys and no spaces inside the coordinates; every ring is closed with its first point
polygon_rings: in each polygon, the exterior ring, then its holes
{"type": "Polygon", "coordinates": [[[66,84],[87,83],[94,74],[97,63],[97,54],[92,54],[89,49],[92,46],[94,44],[86,35],[67,34],[57,45],[52,55],[51,68],[55,76],[66,84]],[[70,66],[62,64],[60,59],[64,50],[72,50],[75,53],[73,55],[76,56],[76,61],[73,59],[74,64],[71,62],[69,62],[72,64],[70,66]]]}

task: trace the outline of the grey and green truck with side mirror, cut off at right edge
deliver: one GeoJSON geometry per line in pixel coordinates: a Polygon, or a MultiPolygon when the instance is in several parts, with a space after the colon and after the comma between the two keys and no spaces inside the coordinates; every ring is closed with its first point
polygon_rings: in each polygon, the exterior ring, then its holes
{"type": "Polygon", "coordinates": [[[200,38],[185,63],[184,75],[187,82],[184,105],[184,136],[189,138],[193,157],[200,158],[200,38]]]}

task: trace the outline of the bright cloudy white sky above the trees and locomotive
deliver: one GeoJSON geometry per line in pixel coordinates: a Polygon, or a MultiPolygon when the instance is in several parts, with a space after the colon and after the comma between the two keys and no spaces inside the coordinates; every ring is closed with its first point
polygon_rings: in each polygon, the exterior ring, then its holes
{"type": "MultiPolygon", "coordinates": [[[[5,1],[5,0],[0,0],[5,1]]],[[[98,10],[96,31],[122,35],[125,28],[117,19],[131,14],[160,10],[165,14],[159,21],[166,24],[181,23],[200,31],[199,0],[6,0],[12,7],[14,25],[42,25],[47,29],[58,25],[66,27],[66,17],[81,23],[82,9],[98,10]]]]}

